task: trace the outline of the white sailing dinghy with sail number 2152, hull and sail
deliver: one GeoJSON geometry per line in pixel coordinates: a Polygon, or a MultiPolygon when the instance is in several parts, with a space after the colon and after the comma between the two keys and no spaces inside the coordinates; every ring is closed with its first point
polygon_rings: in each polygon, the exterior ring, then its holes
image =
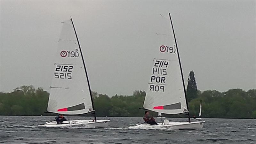
{"type": "Polygon", "coordinates": [[[68,120],[59,125],[54,120],[38,127],[107,127],[110,120],[96,120],[84,57],[73,20],[70,18],[62,23],[47,112],[63,115],[93,113],[94,119],[68,120]]]}

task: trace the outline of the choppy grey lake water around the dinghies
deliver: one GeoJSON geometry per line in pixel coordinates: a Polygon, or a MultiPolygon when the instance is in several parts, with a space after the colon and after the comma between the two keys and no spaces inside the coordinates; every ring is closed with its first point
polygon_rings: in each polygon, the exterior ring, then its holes
{"type": "MultiPolygon", "coordinates": [[[[68,119],[92,117],[68,117],[68,119]]],[[[108,128],[38,128],[38,124],[54,117],[0,116],[0,143],[253,143],[256,144],[255,119],[202,119],[199,130],[142,130],[128,129],[129,125],[143,122],[140,117],[98,117],[110,119],[108,128]]],[[[168,118],[185,121],[184,118],[168,118]]]]}

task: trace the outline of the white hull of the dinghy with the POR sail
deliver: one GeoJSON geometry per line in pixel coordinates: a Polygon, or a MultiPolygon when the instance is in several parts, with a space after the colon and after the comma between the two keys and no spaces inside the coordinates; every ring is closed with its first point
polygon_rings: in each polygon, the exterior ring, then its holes
{"type": "Polygon", "coordinates": [[[158,123],[159,125],[140,124],[136,126],[129,126],[133,129],[168,129],[168,130],[193,130],[203,128],[204,121],[200,122],[169,122],[168,125],[158,123]]]}

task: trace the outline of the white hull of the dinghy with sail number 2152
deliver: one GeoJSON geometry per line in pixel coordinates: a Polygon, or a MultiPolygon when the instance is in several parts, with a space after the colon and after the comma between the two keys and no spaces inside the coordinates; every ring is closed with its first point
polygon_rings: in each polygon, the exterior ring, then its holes
{"type": "Polygon", "coordinates": [[[62,124],[57,125],[56,121],[45,122],[43,125],[38,127],[85,127],[85,128],[101,128],[107,127],[110,120],[67,120],[63,121],[62,124]]]}

